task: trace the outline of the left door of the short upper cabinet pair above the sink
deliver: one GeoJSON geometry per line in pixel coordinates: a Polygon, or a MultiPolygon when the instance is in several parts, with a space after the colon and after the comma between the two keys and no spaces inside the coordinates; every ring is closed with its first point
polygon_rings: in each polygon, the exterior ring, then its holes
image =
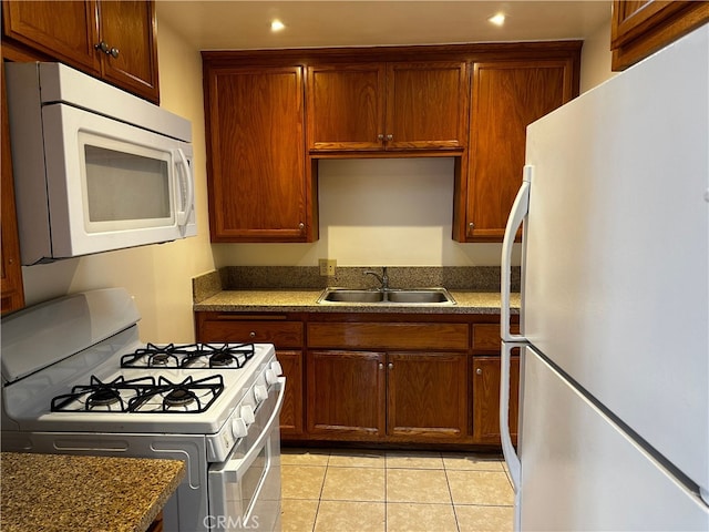
{"type": "Polygon", "coordinates": [[[308,147],[382,150],[383,63],[308,68],[308,147]]]}

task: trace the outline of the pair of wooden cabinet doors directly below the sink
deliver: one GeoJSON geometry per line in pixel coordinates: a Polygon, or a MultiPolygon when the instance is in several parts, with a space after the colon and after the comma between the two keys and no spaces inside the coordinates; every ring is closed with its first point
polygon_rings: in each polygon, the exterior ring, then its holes
{"type": "Polygon", "coordinates": [[[461,441],[465,354],[309,351],[308,433],[366,441],[461,441]]]}

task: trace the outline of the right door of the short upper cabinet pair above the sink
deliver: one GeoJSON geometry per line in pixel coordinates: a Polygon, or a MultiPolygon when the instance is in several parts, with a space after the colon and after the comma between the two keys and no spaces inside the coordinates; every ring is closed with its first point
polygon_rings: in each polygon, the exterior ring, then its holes
{"type": "Polygon", "coordinates": [[[387,150],[463,150],[467,139],[465,62],[388,63],[387,150]]]}

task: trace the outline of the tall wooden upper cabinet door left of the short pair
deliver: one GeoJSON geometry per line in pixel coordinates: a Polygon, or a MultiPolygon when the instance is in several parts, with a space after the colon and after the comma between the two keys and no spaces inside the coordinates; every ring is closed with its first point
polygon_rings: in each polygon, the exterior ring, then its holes
{"type": "Polygon", "coordinates": [[[208,69],[212,242],[307,242],[302,69],[208,69]]]}

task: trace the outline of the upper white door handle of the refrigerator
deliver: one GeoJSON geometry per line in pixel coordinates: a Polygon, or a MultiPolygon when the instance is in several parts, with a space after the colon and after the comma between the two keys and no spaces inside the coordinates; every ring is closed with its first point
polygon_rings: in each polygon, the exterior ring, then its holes
{"type": "Polygon", "coordinates": [[[523,336],[513,335],[510,330],[510,285],[512,283],[510,268],[512,264],[512,245],[517,229],[522,226],[530,208],[530,184],[533,168],[534,166],[531,165],[524,167],[522,186],[512,204],[512,211],[505,227],[505,237],[502,241],[500,336],[503,341],[525,341],[523,336]]]}

